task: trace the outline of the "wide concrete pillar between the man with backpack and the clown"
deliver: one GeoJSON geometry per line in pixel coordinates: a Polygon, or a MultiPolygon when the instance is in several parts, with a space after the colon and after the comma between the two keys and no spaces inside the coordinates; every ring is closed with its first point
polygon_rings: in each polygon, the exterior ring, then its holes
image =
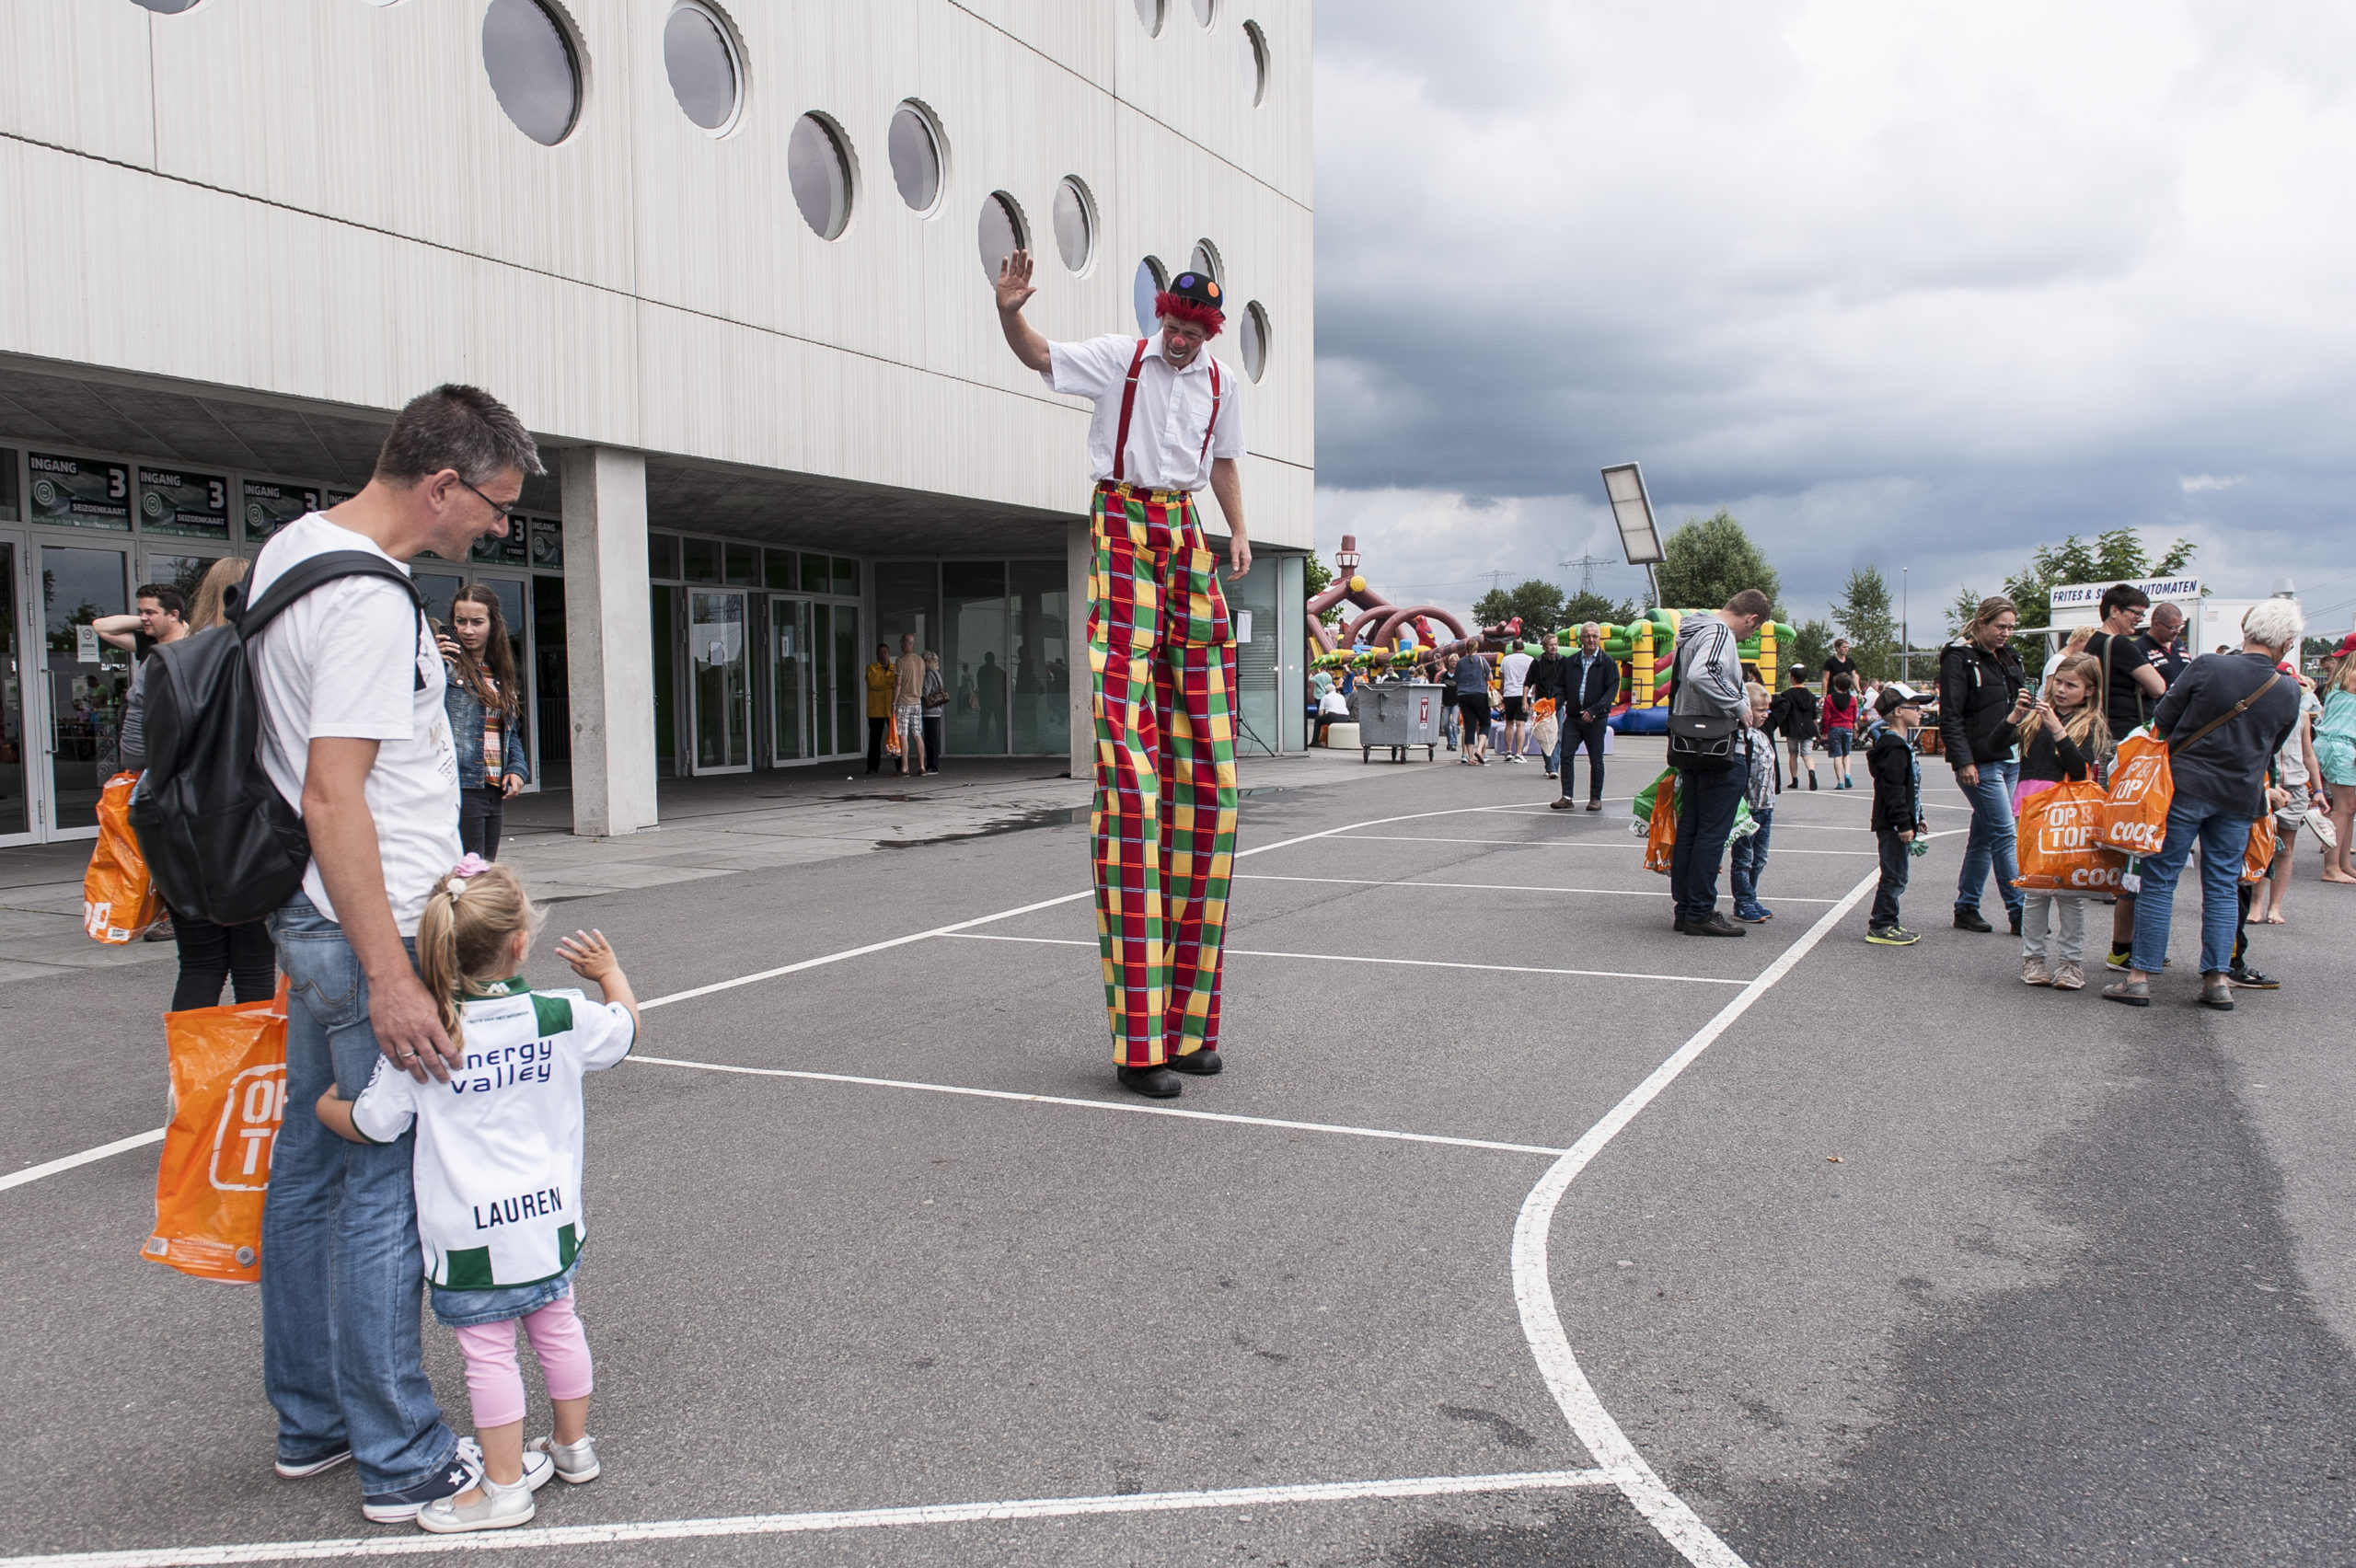
{"type": "Polygon", "coordinates": [[[646,457],[565,447],[563,497],[573,831],[610,838],[655,826],[646,457]]]}

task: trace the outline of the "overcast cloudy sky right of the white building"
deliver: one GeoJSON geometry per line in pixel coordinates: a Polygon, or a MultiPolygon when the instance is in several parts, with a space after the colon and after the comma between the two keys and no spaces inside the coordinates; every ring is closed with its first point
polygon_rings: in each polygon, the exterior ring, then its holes
{"type": "Polygon", "coordinates": [[[1802,617],[2132,525],[2347,626],[2351,85],[2349,5],[1319,7],[1317,544],[1564,582],[1633,457],[1802,617]]]}

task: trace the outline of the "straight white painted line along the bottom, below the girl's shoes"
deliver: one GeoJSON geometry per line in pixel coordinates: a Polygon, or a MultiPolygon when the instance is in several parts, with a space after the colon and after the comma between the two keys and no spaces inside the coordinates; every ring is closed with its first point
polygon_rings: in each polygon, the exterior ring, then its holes
{"type": "Polygon", "coordinates": [[[353,1556],[429,1556],[443,1552],[532,1552],[542,1547],[622,1547],[650,1540],[712,1540],[721,1535],[813,1535],[820,1530],[997,1523],[1001,1519],[1081,1519],[1091,1514],[1178,1514],[1190,1509],[1251,1509],[1303,1502],[1541,1493],[1581,1486],[1612,1486],[1612,1479],[1600,1469],[1534,1469],[1503,1476],[1312,1481],[1308,1486],[1232,1486],[1202,1493],[1136,1493],[1131,1497],[1027,1497],[1020,1502],[949,1502],[905,1509],[839,1509],[832,1514],[726,1514],[719,1519],[655,1519],[643,1523],[554,1526],[544,1530],[525,1526],[521,1530],[492,1530],[485,1535],[424,1535],[408,1530],[401,1535],[349,1540],[257,1540],[236,1547],[0,1556],[0,1568],[205,1568],[212,1563],[292,1563],[353,1556]]]}

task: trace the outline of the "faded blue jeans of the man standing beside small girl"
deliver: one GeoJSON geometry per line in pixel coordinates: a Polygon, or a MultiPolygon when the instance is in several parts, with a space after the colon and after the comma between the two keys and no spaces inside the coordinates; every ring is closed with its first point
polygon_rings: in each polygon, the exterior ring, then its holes
{"type": "Polygon", "coordinates": [[[299,892],[271,935],[287,975],[287,1104],[262,1203],[262,1382],[278,1457],[349,1446],[363,1493],[405,1490],[457,1453],[417,1340],[417,1132],[351,1144],[320,1125],[320,1092],[337,1083],[356,1099],[379,1059],[368,977],[344,928],[299,892]]]}

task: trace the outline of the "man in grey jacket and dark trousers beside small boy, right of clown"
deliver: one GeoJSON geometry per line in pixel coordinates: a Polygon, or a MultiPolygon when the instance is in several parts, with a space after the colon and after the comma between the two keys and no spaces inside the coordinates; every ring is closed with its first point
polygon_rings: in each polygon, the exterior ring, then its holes
{"type": "MultiPolygon", "coordinates": [[[[1751,779],[1741,768],[1743,638],[1758,633],[1774,605],[1758,589],[1743,589],[1725,610],[1696,614],[1677,626],[1668,699],[1668,765],[1677,770],[1677,848],[1670,852],[1668,895],[1677,904],[1675,930],[1687,937],[1743,937],[1741,925],[1718,913],[1718,862],[1734,833],[1734,810],[1751,779]]],[[[1569,765],[1569,758],[1564,758],[1569,765]]]]}

